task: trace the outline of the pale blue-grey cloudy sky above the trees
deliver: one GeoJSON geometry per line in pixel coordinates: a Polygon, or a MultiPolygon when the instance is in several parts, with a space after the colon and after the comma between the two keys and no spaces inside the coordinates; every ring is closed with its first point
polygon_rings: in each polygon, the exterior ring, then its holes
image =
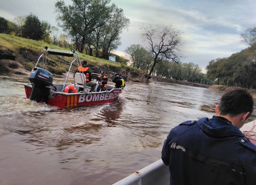
{"type": "MultiPolygon", "coordinates": [[[[72,4],[71,0],[64,0],[72,4]]],[[[54,4],[56,0],[0,0],[0,16],[13,20],[16,16],[36,14],[57,26],[54,4]]],[[[172,24],[183,32],[182,62],[201,67],[211,59],[228,57],[247,46],[241,44],[240,34],[256,27],[255,0],[111,0],[124,9],[130,19],[128,31],[122,33],[119,51],[131,44],[142,44],[139,36],[142,24],[172,24]]]]}

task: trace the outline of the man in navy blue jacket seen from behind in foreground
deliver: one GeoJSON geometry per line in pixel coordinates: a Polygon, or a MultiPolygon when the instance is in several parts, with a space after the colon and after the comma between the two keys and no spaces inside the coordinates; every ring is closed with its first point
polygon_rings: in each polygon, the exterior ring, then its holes
{"type": "Polygon", "coordinates": [[[256,146],[239,130],[253,111],[246,89],[220,98],[216,116],[173,128],[162,149],[171,185],[256,184],[256,146]]]}

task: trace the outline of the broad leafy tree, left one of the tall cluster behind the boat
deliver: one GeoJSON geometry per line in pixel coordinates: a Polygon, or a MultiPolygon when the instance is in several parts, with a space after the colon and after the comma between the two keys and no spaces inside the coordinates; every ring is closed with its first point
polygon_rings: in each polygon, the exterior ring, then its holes
{"type": "Polygon", "coordinates": [[[88,36],[111,18],[110,0],[72,1],[68,6],[63,0],[57,1],[55,11],[59,26],[74,38],[78,51],[83,52],[88,36]]]}

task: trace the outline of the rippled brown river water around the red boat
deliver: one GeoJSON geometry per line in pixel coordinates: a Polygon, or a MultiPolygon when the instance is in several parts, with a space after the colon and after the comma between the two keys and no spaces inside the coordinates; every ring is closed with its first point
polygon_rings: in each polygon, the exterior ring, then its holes
{"type": "Polygon", "coordinates": [[[0,76],[1,185],[112,184],[161,158],[170,129],[212,117],[220,98],[205,88],[127,82],[111,104],[57,109],[26,99],[23,82],[28,76],[0,76]]]}

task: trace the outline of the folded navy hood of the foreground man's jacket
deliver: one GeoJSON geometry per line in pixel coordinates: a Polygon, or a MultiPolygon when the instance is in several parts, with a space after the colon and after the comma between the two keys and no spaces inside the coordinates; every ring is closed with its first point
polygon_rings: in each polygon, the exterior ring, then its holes
{"type": "Polygon", "coordinates": [[[202,118],[197,121],[199,127],[209,135],[217,136],[217,137],[225,137],[225,136],[242,136],[244,134],[235,126],[231,124],[230,121],[226,121],[218,118],[202,118]]]}

